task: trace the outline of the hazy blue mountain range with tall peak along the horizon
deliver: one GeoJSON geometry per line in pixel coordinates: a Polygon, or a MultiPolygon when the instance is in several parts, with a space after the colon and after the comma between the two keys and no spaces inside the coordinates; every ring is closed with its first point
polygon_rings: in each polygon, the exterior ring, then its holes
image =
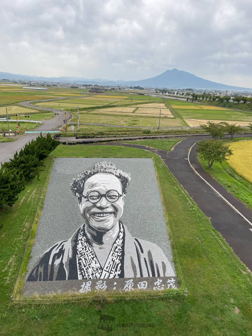
{"type": "Polygon", "coordinates": [[[142,87],[166,87],[166,88],[195,88],[195,89],[213,89],[213,90],[230,90],[230,91],[252,91],[251,88],[225,85],[215,83],[207,79],[197,77],[189,72],[172,69],[166,70],[162,74],[141,79],[138,81],[111,81],[100,78],[83,78],[83,77],[39,77],[30,75],[11,74],[8,72],[0,72],[0,78],[3,79],[26,79],[38,80],[46,82],[64,82],[76,84],[100,84],[100,85],[128,85],[128,86],[142,86],[142,87]]]}

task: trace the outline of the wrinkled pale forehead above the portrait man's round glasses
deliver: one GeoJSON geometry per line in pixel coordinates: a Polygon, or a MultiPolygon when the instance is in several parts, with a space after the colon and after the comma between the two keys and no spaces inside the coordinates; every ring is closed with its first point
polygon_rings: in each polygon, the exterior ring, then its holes
{"type": "Polygon", "coordinates": [[[118,177],[109,173],[98,173],[89,177],[84,184],[84,192],[91,190],[116,190],[122,193],[122,184],[118,177]]]}

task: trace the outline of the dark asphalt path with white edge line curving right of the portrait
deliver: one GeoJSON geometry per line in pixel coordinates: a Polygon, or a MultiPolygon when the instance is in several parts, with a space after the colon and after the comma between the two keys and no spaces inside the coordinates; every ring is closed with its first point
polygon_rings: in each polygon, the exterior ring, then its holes
{"type": "MultiPolygon", "coordinates": [[[[162,158],[178,182],[197,203],[201,211],[209,217],[213,227],[218,230],[226,242],[233,248],[241,261],[252,270],[252,226],[219,197],[218,194],[194,172],[188,163],[188,151],[196,141],[203,138],[211,137],[187,137],[180,141],[171,152],[152,148],[148,148],[148,150],[162,158]]],[[[104,144],[106,145],[106,143],[104,144]]],[[[146,149],[146,146],[121,142],[110,142],[107,144],[146,149]]],[[[193,167],[228,202],[252,222],[252,211],[204,171],[198,161],[195,149],[196,146],[193,147],[190,154],[190,162],[193,167]]]]}

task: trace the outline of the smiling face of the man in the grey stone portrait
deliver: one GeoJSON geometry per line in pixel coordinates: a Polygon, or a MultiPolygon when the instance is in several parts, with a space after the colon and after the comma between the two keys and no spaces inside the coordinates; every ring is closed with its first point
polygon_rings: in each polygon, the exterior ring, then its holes
{"type": "MultiPolygon", "coordinates": [[[[122,194],[122,184],[119,178],[108,173],[98,173],[89,177],[84,184],[83,195],[98,191],[106,194],[110,190],[115,190],[122,194]]],[[[106,197],[96,203],[91,203],[86,198],[82,198],[80,210],[87,224],[98,231],[108,231],[115,226],[123,214],[124,195],[115,202],[109,202],[106,197]]]]}

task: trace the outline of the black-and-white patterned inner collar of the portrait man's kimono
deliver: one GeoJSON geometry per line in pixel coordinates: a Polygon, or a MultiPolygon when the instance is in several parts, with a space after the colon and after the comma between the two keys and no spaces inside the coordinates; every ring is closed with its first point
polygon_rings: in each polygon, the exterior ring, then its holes
{"type": "Polygon", "coordinates": [[[77,242],[77,267],[80,279],[112,279],[123,277],[125,232],[119,222],[119,233],[109,256],[102,268],[92,246],[85,235],[85,224],[82,225],[77,242]]]}

